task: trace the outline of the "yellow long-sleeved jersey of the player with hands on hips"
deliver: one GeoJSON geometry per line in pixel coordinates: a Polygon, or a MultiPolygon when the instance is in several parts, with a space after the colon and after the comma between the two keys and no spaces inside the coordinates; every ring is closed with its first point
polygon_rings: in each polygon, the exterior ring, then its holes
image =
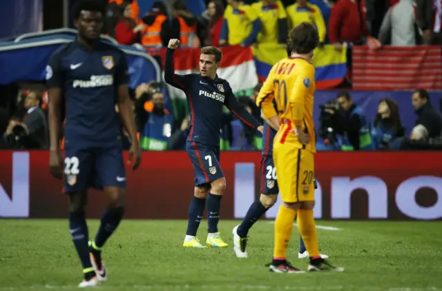
{"type": "Polygon", "coordinates": [[[313,104],[315,92],[315,68],[311,63],[299,57],[289,57],[278,61],[262,86],[256,105],[267,119],[278,114],[280,128],[275,143],[294,143],[296,148],[305,148],[316,152],[315,129],[313,122],[313,104]],[[273,107],[276,100],[278,112],[273,107]],[[291,132],[295,126],[302,126],[307,132],[310,143],[305,147],[291,132]]]}

